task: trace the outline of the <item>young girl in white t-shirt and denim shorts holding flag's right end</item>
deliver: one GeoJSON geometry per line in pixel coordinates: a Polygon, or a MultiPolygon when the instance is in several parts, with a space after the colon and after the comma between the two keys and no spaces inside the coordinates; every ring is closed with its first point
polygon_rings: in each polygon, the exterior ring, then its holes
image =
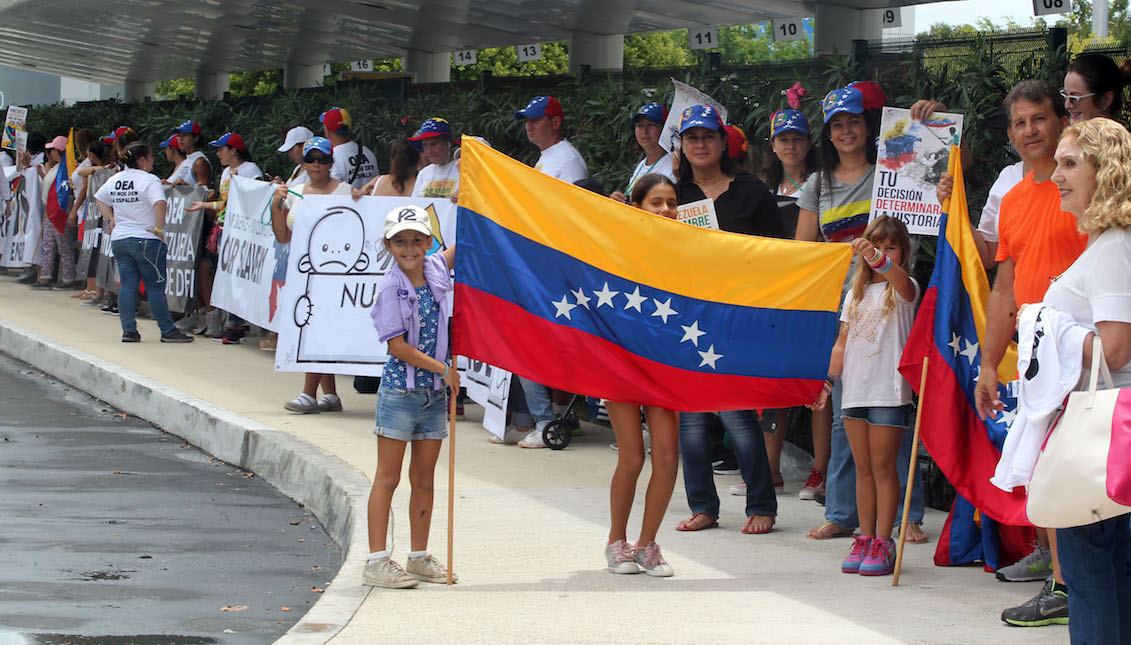
{"type": "Polygon", "coordinates": [[[914,414],[899,358],[920,289],[908,275],[910,235],[899,220],[877,217],[852,244],[861,261],[845,295],[840,335],[814,407],[824,407],[841,379],[840,410],[856,464],[860,536],[840,570],[886,576],[896,564],[891,531],[899,507],[899,445],[914,414]]]}

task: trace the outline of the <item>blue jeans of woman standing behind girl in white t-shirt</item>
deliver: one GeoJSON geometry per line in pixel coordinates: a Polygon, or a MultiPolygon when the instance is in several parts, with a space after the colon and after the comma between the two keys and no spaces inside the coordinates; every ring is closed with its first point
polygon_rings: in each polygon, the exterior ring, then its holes
{"type": "MultiPolygon", "coordinates": [[[[856,528],[860,518],[856,516],[856,463],[852,459],[852,447],[848,435],[845,433],[844,416],[840,411],[840,381],[832,387],[832,446],[829,450],[829,472],[824,480],[824,519],[841,528],[856,528]]],[[[899,445],[899,461],[896,470],[899,472],[899,508],[896,519],[904,518],[904,496],[907,490],[907,468],[910,466],[913,431],[904,430],[904,440],[899,445]]],[[[916,476],[912,485],[912,509],[907,514],[909,524],[923,523],[923,478],[916,476]]]]}

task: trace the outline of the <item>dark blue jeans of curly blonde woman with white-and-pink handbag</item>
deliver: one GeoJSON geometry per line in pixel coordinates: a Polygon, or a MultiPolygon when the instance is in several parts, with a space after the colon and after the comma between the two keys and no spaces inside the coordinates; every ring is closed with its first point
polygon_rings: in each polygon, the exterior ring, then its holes
{"type": "Polygon", "coordinates": [[[1056,530],[1072,645],[1131,645],[1131,515],[1056,530]]]}

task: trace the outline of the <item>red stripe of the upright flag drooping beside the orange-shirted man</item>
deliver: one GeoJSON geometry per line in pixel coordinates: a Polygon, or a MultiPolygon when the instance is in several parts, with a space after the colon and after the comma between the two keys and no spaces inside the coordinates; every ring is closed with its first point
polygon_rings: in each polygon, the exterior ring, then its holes
{"type": "Polygon", "coordinates": [[[1028,526],[1025,489],[1005,492],[990,483],[1001,453],[990,441],[985,425],[966,398],[958,377],[934,344],[932,326],[938,293],[938,290],[929,289],[924,294],[900,367],[904,378],[917,387],[922,356],[931,359],[926,393],[921,393],[920,399],[923,444],[947,480],[982,513],[1001,524],[1028,526]],[[912,363],[908,360],[910,356],[917,356],[917,363],[912,363]]]}

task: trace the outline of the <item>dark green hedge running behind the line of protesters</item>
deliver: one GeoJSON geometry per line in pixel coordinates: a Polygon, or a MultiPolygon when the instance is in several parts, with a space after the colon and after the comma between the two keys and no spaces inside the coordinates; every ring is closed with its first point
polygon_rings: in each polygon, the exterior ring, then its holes
{"type": "MultiPolygon", "coordinates": [[[[978,206],[996,174],[1008,162],[1005,137],[987,130],[982,121],[995,110],[1008,88],[1027,77],[1060,81],[1063,52],[1047,51],[1046,32],[979,35],[951,41],[920,41],[898,53],[873,46],[856,58],[831,57],[720,69],[649,70],[631,74],[582,74],[576,77],[537,77],[460,81],[442,86],[411,86],[402,81],[348,81],[333,86],[285,91],[235,101],[169,101],[79,103],[35,108],[29,127],[44,135],[66,134],[69,127],[92,128],[100,135],[129,124],[140,136],[159,143],[170,129],[195,119],[208,137],[240,132],[264,170],[287,174],[290,161],[276,153],[283,131],[294,124],[320,130],[318,115],[327,108],[349,110],[356,138],[388,167],[394,139],[411,136],[421,121],[439,115],[457,134],[485,137],[498,149],[532,162],[535,148],[512,117],[532,96],[553,94],[566,111],[567,131],[589,163],[592,174],[610,189],[622,187],[638,158],[632,149],[629,115],[648,101],[670,101],[671,77],[700,87],[729,110],[729,120],[745,128],[756,147],[765,140],[769,115],[786,108],[784,91],[801,81],[810,92],[804,111],[819,126],[820,98],[855,78],[878,80],[890,103],[909,106],[920,97],[939,98],[966,112],[966,132],[975,156],[987,172],[970,178],[972,207],[978,206]],[[992,172],[991,172],[992,171],[992,172]]],[[[159,160],[157,172],[167,172],[159,160]]],[[[976,210],[975,210],[976,212],[976,210]]]]}

